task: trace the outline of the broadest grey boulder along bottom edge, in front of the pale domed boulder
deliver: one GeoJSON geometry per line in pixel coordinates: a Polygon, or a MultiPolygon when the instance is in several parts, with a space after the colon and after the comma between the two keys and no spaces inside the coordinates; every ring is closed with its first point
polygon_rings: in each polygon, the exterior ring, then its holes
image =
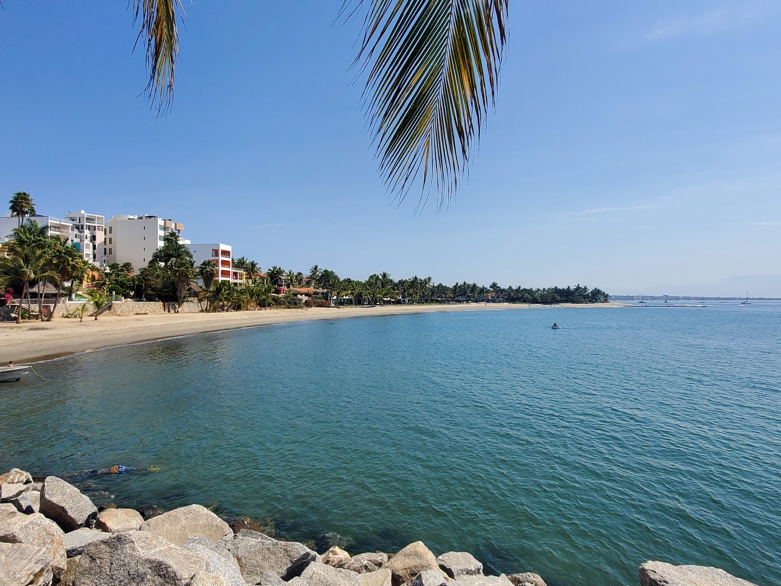
{"type": "Polygon", "coordinates": [[[184,586],[206,566],[200,553],[171,545],[159,535],[124,531],[84,548],[75,586],[184,586]]]}

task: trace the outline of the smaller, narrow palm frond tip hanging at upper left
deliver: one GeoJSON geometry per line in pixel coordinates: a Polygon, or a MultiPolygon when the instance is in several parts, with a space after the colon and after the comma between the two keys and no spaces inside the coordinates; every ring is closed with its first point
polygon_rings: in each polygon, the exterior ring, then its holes
{"type": "MultiPolygon", "coordinates": [[[[181,0],[130,0],[134,2],[134,23],[141,23],[139,41],[146,45],[149,80],[145,88],[149,102],[158,114],[173,101],[173,70],[179,60],[177,13],[184,14],[181,0]]],[[[134,47],[135,49],[135,47],[134,47]]]]}

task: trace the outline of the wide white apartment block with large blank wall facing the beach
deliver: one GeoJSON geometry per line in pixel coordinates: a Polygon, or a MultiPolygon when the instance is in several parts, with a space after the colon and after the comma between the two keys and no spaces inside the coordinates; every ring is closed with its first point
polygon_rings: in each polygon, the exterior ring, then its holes
{"type": "Polygon", "coordinates": [[[158,216],[111,216],[105,223],[105,264],[131,263],[138,273],[152,260],[155,250],[162,247],[168,232],[175,232],[182,243],[189,244],[181,238],[182,230],[182,224],[158,216]]]}

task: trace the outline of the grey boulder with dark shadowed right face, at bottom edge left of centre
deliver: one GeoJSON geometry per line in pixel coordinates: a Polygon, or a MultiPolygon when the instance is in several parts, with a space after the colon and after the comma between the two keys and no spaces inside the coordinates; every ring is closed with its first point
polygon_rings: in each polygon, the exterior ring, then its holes
{"type": "Polygon", "coordinates": [[[266,535],[263,535],[265,539],[251,538],[244,531],[256,533],[247,529],[239,531],[227,541],[227,548],[239,563],[244,581],[249,584],[258,584],[265,572],[272,572],[285,581],[291,580],[318,558],[316,552],[301,543],[276,541],[266,535]]]}

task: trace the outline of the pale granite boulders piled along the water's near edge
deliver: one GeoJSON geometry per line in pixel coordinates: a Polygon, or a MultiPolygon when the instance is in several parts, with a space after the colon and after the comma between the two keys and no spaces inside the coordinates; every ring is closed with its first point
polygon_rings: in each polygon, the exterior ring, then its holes
{"type": "MultiPolygon", "coordinates": [[[[486,576],[466,552],[422,541],[395,554],[322,555],[200,505],[98,510],[58,477],[0,475],[0,586],[546,586],[536,573],[486,576]],[[454,585],[455,586],[455,585],[454,585]]],[[[754,586],[715,568],[648,562],[641,586],[754,586]]]]}

